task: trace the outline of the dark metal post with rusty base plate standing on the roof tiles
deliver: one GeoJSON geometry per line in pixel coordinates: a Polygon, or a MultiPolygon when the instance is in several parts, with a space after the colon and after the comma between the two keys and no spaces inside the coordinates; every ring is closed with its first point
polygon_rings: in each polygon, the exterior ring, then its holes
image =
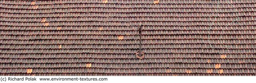
{"type": "Polygon", "coordinates": [[[139,58],[139,59],[143,59],[145,57],[144,55],[144,52],[142,51],[142,43],[141,43],[141,32],[142,32],[142,24],[139,24],[138,25],[138,31],[139,31],[139,34],[140,34],[140,50],[137,51],[136,53],[136,57],[139,58]]]}

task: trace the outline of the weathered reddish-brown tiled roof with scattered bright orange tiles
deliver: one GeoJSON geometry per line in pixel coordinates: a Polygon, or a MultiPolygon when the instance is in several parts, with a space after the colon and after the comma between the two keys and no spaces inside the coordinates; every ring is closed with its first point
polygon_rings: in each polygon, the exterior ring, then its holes
{"type": "Polygon", "coordinates": [[[255,8],[254,0],[0,0],[0,75],[256,75],[255,8]],[[139,23],[144,59],[129,27],[139,23]]]}

